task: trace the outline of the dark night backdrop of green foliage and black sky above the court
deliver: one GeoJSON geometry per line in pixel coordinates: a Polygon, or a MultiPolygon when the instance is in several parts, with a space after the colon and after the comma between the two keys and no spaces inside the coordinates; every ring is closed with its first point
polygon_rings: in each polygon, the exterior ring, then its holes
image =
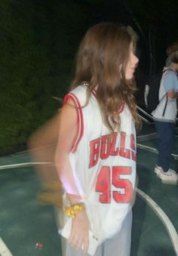
{"type": "Polygon", "coordinates": [[[1,0],[0,156],[26,150],[29,135],[60,108],[55,97],[68,91],[90,26],[116,21],[137,31],[141,90],[178,39],[177,14],[176,0],[1,0]]]}

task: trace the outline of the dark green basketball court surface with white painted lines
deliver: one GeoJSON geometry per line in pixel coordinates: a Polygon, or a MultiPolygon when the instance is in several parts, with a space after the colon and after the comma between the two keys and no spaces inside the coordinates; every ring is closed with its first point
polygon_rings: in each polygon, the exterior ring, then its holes
{"type": "MultiPolygon", "coordinates": [[[[155,137],[152,127],[143,128],[137,136],[139,184],[133,206],[130,256],[178,255],[178,188],[162,184],[156,177],[155,137]]],[[[176,170],[177,150],[175,134],[176,170]]],[[[40,205],[35,199],[39,180],[29,153],[2,157],[0,165],[0,255],[61,256],[54,208],[40,205]]]]}

